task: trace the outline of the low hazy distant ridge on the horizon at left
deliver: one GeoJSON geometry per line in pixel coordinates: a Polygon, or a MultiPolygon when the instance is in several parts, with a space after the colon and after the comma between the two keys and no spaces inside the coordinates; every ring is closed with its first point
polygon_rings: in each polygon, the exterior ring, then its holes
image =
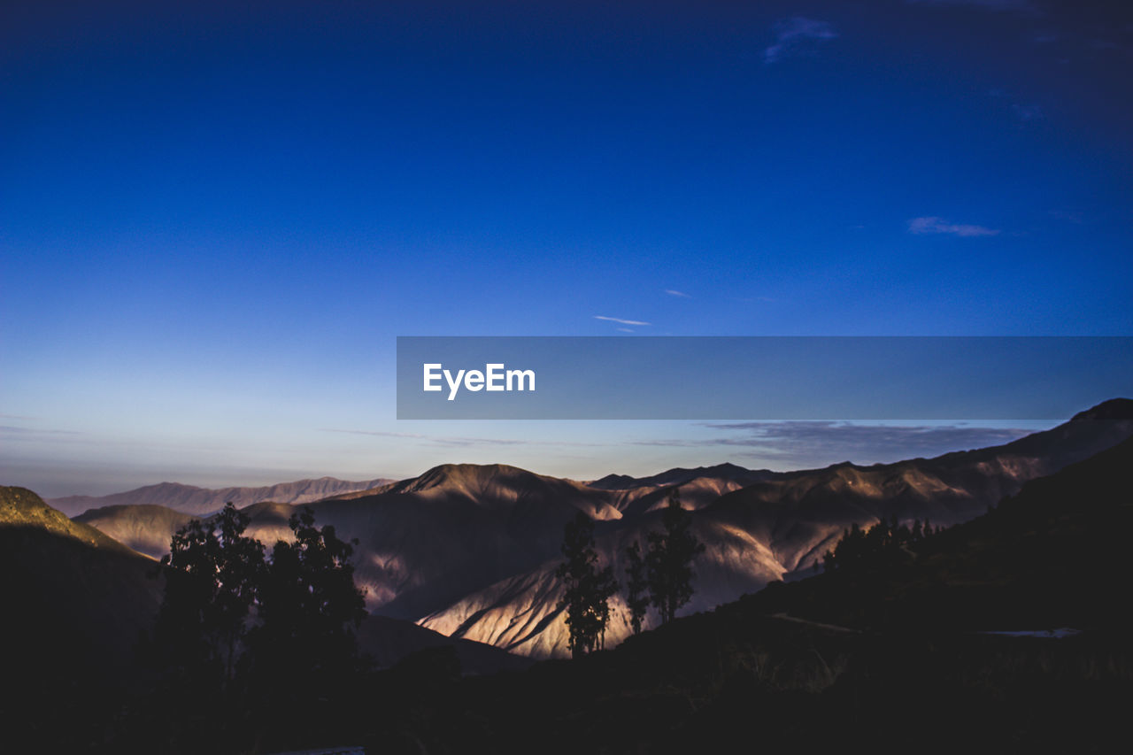
{"type": "Polygon", "coordinates": [[[214,490],[167,482],[110,495],[52,498],[48,499],[48,503],[68,516],[76,516],[90,509],[108,506],[162,506],[184,514],[207,516],[222,509],[229,501],[238,508],[261,501],[309,503],[340,493],[380,487],[391,482],[393,481],[384,478],[348,482],[334,477],[320,477],[318,480],[297,480],[296,482],[264,487],[219,487],[214,490]]]}

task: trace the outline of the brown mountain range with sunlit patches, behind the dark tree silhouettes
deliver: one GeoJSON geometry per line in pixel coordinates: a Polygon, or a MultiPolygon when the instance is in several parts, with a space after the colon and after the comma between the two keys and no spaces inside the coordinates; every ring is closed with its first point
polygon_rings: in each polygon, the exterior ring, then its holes
{"type": "MultiPolygon", "coordinates": [[[[719,465],[646,478],[611,475],[589,484],[505,465],[444,465],[397,483],[372,481],[380,484],[309,506],[317,523],[358,540],[356,576],[372,612],[544,658],[565,654],[552,575],[563,525],[577,511],[596,520],[599,559],[624,584],[625,545],[644,544],[659,526],[657,508],[678,487],[706,544],[688,613],[807,572],[851,524],[869,526],[880,517],[965,521],[1026,481],[1130,435],[1133,401],[1117,399],[1005,446],[934,459],[790,473],[719,465]]],[[[292,507],[286,502],[245,510],[249,532],[266,544],[289,536],[292,507]]],[[[184,511],[118,506],[78,520],[157,557],[186,518],[184,511]]],[[[627,634],[619,601],[608,646],[627,634]]]]}

